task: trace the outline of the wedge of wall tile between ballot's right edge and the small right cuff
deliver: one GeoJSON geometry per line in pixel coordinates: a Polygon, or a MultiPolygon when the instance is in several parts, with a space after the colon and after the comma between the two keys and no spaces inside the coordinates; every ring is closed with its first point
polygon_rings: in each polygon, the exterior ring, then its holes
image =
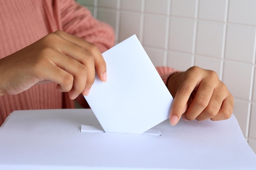
{"type": "Polygon", "coordinates": [[[150,47],[144,47],[148,57],[154,66],[164,66],[164,50],[152,49],[150,47]]]}

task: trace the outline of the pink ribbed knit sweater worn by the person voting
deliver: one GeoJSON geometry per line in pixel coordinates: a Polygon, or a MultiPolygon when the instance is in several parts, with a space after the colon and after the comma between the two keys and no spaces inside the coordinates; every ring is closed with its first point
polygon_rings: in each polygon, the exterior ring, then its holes
{"type": "MultiPolygon", "coordinates": [[[[95,20],[74,0],[0,0],[0,8],[0,58],[56,30],[84,38],[101,52],[115,42],[112,28],[95,20]]],[[[166,81],[174,70],[159,67],[157,71],[166,81]]],[[[87,106],[82,95],[76,100],[87,106]]],[[[67,93],[58,92],[54,83],[35,85],[18,95],[4,95],[0,97],[0,126],[13,110],[53,108],[74,108],[67,93]]]]}

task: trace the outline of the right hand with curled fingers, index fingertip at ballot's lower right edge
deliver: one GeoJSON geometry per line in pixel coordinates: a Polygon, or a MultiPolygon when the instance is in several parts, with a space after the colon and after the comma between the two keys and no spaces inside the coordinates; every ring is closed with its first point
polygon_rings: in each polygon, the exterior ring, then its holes
{"type": "Polygon", "coordinates": [[[182,119],[199,121],[228,119],[233,112],[234,98],[214,71],[197,66],[173,74],[167,86],[173,95],[171,125],[182,119]]]}

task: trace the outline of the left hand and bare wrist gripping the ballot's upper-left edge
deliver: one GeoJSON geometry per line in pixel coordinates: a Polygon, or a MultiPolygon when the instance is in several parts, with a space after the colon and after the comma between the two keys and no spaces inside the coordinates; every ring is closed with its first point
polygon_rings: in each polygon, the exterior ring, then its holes
{"type": "Polygon", "coordinates": [[[96,45],[56,31],[0,60],[0,96],[18,94],[34,84],[57,83],[70,99],[88,95],[95,70],[106,82],[106,63],[96,45]]]}

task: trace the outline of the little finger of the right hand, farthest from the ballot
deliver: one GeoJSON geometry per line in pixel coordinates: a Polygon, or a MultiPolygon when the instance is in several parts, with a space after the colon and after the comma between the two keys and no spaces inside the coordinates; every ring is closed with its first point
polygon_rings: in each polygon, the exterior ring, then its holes
{"type": "Polygon", "coordinates": [[[231,94],[222,102],[222,106],[216,116],[212,117],[211,120],[225,120],[229,119],[234,108],[234,98],[231,94]]]}

